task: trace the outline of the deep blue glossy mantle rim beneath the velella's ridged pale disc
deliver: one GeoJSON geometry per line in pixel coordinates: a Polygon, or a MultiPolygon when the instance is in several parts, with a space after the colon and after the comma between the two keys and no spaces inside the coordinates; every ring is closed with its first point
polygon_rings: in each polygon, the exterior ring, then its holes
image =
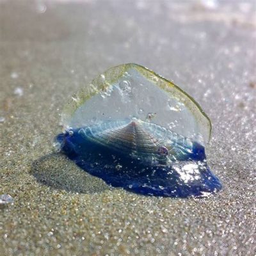
{"type": "Polygon", "coordinates": [[[62,152],[87,173],[113,187],[148,196],[205,196],[219,191],[220,180],[205,162],[204,147],[196,146],[188,161],[172,166],[148,166],[122,153],[85,140],[78,130],[59,134],[62,152]]]}

